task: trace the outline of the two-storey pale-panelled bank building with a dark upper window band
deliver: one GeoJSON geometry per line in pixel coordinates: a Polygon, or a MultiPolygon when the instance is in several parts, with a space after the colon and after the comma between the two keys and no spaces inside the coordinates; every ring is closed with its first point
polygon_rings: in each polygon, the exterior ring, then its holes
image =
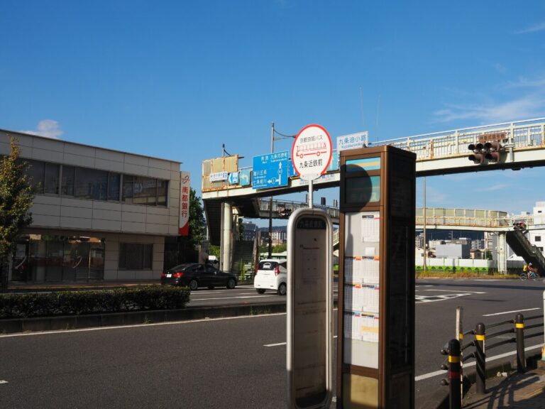
{"type": "Polygon", "coordinates": [[[159,280],[178,234],[180,162],[1,129],[0,155],[10,135],[36,191],[9,280],[159,280]]]}

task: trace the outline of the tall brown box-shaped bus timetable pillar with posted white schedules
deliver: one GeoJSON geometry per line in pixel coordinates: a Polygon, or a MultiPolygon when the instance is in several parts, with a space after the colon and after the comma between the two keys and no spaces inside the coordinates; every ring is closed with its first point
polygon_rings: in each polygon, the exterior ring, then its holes
{"type": "Polygon", "coordinates": [[[414,408],[414,153],[341,151],[337,408],[414,408]]]}

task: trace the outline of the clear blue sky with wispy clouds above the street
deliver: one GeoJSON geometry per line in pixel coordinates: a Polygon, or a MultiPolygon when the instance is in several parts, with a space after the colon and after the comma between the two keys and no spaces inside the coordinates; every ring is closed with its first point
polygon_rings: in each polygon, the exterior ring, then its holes
{"type": "MultiPolygon", "coordinates": [[[[544,1],[2,0],[0,24],[1,129],[180,160],[199,194],[202,160],[251,165],[272,121],[378,141],[545,116],[544,1]]],[[[427,205],[532,210],[544,172],[427,178],[427,205]]]]}

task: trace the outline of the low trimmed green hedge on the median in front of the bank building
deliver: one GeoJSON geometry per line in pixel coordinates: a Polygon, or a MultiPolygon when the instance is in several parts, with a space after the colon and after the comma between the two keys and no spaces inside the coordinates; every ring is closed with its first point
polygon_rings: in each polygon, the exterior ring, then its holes
{"type": "Polygon", "coordinates": [[[187,287],[142,285],[115,290],[1,294],[0,318],[175,310],[185,307],[189,293],[187,287]]]}

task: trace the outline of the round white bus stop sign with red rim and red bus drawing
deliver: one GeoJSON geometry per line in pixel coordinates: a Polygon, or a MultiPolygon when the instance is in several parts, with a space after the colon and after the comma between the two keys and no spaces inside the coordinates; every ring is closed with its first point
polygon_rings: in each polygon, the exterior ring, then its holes
{"type": "Polygon", "coordinates": [[[325,173],[331,162],[331,138],[323,126],[307,125],[295,137],[292,163],[302,179],[314,180],[325,173]]]}

